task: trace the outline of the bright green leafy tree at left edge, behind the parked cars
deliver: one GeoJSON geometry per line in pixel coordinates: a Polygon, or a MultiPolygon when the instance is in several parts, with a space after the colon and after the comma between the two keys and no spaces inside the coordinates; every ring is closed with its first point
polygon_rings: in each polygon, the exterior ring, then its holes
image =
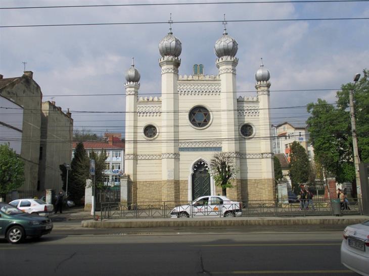
{"type": "MultiPolygon", "coordinates": [[[[0,198],[24,183],[24,162],[9,144],[0,145],[0,198]]],[[[1,201],[1,200],[0,200],[1,201]]]]}

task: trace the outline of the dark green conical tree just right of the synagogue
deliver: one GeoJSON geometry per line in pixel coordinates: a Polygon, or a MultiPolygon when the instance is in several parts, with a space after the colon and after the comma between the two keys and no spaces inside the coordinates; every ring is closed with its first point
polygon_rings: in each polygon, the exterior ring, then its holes
{"type": "Polygon", "coordinates": [[[289,171],[292,187],[298,192],[299,185],[309,180],[309,157],[299,142],[291,144],[289,171]]]}

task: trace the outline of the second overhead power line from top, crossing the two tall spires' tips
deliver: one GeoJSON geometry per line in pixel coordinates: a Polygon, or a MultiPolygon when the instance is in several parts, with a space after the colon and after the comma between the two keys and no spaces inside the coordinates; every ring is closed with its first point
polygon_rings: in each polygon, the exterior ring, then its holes
{"type": "MultiPolygon", "coordinates": [[[[227,22],[288,22],[288,21],[333,21],[333,20],[367,20],[369,17],[343,17],[343,18],[300,18],[300,19],[247,19],[247,20],[227,20],[227,22]]],[[[201,21],[173,21],[174,23],[221,23],[222,20],[201,20],[201,21]]],[[[39,25],[9,25],[0,28],[23,28],[23,27],[68,27],[68,26],[104,26],[104,25],[148,25],[148,24],[168,24],[167,21],[157,22],[120,22],[120,23],[81,23],[81,24],[39,24],[39,25]]]]}

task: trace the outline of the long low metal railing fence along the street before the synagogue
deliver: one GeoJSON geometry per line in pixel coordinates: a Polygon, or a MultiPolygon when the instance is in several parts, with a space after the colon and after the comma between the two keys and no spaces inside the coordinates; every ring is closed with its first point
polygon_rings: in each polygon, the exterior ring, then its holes
{"type": "MultiPolygon", "coordinates": [[[[223,217],[223,216],[313,216],[333,215],[335,203],[329,199],[281,203],[278,200],[247,200],[237,204],[207,204],[196,206],[191,202],[102,202],[101,220],[110,218],[168,218],[168,217],[223,217]],[[174,209],[176,208],[176,209],[174,209]],[[241,213],[242,211],[242,213],[241,213]]],[[[340,204],[340,203],[338,203],[340,204]]],[[[340,204],[342,215],[362,214],[360,199],[350,199],[347,205],[340,204]]]]}

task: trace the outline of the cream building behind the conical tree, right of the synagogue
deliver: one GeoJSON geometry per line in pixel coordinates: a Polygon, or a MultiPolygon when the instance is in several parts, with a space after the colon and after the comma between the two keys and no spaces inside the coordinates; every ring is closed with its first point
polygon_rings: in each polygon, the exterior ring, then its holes
{"type": "Polygon", "coordinates": [[[278,126],[272,125],[271,127],[274,153],[284,153],[288,161],[290,161],[290,146],[294,141],[297,141],[305,148],[309,161],[314,161],[314,152],[312,145],[309,143],[309,133],[306,127],[294,127],[288,122],[278,126]]]}

